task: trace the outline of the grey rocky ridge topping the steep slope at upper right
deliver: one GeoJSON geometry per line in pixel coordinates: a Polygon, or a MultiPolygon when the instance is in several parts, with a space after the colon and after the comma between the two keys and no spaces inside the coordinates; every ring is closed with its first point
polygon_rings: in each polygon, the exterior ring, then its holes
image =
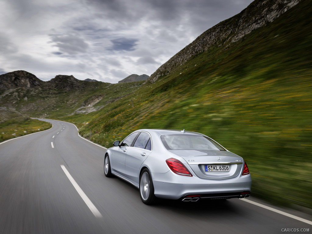
{"type": "Polygon", "coordinates": [[[147,81],[154,83],[161,76],[168,75],[191,57],[215,47],[226,50],[250,32],[272,22],[301,0],[255,0],[239,14],[208,29],[192,43],[160,66],[147,81]]]}

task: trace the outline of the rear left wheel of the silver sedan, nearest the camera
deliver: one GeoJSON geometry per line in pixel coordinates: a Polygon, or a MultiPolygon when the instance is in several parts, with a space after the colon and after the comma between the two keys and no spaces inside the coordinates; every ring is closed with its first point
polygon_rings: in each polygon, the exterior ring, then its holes
{"type": "Polygon", "coordinates": [[[139,190],[141,200],[144,204],[151,205],[155,203],[156,197],[154,195],[153,180],[147,168],[145,168],[140,175],[139,190]]]}

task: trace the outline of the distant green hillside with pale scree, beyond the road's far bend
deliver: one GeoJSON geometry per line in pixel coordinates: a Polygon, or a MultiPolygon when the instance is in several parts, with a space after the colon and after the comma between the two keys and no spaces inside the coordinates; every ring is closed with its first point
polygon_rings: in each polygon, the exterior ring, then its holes
{"type": "Polygon", "coordinates": [[[0,106],[28,116],[60,117],[76,112],[90,112],[132,93],[143,83],[110,84],[79,80],[83,88],[66,91],[62,88],[16,88],[1,91],[0,106]]]}

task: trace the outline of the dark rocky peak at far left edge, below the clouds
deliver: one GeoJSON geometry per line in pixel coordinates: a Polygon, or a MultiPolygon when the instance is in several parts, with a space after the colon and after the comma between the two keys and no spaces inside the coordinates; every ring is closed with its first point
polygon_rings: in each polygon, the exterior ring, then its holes
{"type": "Polygon", "coordinates": [[[23,88],[39,88],[44,81],[27,71],[13,71],[0,75],[0,90],[23,88]]]}

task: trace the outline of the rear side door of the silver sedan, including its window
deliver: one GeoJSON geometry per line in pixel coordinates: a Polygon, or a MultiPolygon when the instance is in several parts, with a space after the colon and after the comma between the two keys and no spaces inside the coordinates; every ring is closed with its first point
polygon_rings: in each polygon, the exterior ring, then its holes
{"type": "Polygon", "coordinates": [[[152,152],[151,137],[147,132],[140,132],[133,147],[127,150],[125,176],[134,183],[139,183],[139,169],[152,152]]]}

